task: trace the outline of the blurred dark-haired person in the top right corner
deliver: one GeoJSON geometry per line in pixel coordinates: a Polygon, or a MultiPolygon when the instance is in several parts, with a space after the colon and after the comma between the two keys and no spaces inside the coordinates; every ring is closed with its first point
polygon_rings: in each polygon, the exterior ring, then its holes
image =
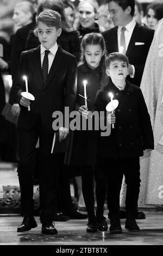
{"type": "Polygon", "coordinates": [[[153,2],[147,7],[147,26],[156,29],[159,20],[163,17],[163,3],[161,1],[153,2]]]}

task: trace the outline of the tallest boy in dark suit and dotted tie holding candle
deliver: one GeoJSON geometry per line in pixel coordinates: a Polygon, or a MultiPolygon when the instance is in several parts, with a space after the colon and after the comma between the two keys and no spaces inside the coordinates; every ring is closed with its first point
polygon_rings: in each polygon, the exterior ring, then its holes
{"type": "MultiPolygon", "coordinates": [[[[57,211],[57,180],[60,153],[51,154],[54,130],[54,111],[74,110],[76,101],[76,57],[57,45],[61,34],[61,18],[57,11],[46,10],[37,17],[41,45],[22,52],[16,84],[18,117],[18,178],[21,189],[23,222],[17,231],[27,231],[37,226],[33,217],[33,167],[37,139],[40,139],[40,221],[43,234],[57,234],[53,216],[57,211]],[[23,76],[28,79],[28,91],[35,100],[30,102],[21,93],[26,90],[23,76]],[[30,111],[28,108],[30,106],[30,111]]],[[[63,125],[64,126],[64,125],[63,125]]],[[[59,127],[59,141],[68,135],[68,127],[59,127]]],[[[58,136],[56,136],[58,137],[58,136]]],[[[57,143],[59,144],[59,143],[57,143]]],[[[56,152],[56,150],[55,150],[56,152]]]]}

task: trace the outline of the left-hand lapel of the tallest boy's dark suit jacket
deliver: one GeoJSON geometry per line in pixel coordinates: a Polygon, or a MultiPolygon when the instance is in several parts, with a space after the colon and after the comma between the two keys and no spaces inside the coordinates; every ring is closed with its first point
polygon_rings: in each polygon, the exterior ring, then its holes
{"type": "Polygon", "coordinates": [[[34,70],[38,77],[38,81],[40,83],[40,88],[42,88],[43,87],[43,74],[42,74],[42,69],[41,69],[40,45],[36,49],[34,49],[33,65],[34,65],[34,70]]]}

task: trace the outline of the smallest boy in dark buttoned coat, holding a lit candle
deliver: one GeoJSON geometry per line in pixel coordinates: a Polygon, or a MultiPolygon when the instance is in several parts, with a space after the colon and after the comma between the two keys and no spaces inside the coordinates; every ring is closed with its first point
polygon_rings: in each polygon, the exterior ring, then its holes
{"type": "Polygon", "coordinates": [[[103,163],[108,179],[108,209],[110,212],[110,233],[121,234],[120,191],[123,174],[127,184],[126,229],[139,231],[135,221],[140,190],[139,157],[154,149],[153,131],[141,89],[126,80],[128,58],[119,52],[110,53],[105,60],[109,83],[98,91],[95,107],[105,111],[110,101],[109,93],[114,95],[119,105],[115,113],[109,114],[109,124],[115,124],[108,137],[101,137],[99,161],[103,163]]]}

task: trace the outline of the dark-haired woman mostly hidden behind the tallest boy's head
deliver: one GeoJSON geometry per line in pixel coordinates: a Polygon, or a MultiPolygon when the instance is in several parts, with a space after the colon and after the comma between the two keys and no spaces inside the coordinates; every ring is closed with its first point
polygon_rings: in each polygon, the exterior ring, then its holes
{"type": "MultiPolygon", "coordinates": [[[[72,28],[68,25],[66,20],[64,4],[61,0],[45,0],[37,8],[37,14],[39,15],[41,11],[51,9],[58,11],[61,15],[62,22],[62,33],[57,39],[57,44],[60,45],[65,51],[73,54],[77,57],[77,60],[80,58],[80,41],[77,31],[73,31],[72,28]]],[[[37,36],[37,28],[34,31],[30,31],[27,39],[26,50],[37,47],[40,44],[37,36]]]]}

